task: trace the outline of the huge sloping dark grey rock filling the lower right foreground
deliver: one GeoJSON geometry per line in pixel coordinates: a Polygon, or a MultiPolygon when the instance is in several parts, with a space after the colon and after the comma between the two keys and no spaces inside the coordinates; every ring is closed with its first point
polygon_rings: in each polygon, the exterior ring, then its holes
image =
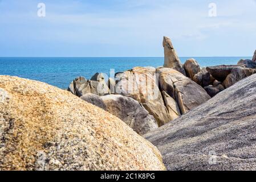
{"type": "Polygon", "coordinates": [[[169,170],[256,170],[256,75],[144,135],[169,170]]]}

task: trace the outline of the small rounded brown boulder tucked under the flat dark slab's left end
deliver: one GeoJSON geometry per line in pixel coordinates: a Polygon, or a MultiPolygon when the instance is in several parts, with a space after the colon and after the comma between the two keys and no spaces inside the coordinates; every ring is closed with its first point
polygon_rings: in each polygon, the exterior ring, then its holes
{"type": "Polygon", "coordinates": [[[206,68],[202,68],[201,72],[198,72],[196,75],[194,75],[192,80],[198,85],[205,87],[211,85],[215,79],[212,75],[210,75],[206,68]]]}

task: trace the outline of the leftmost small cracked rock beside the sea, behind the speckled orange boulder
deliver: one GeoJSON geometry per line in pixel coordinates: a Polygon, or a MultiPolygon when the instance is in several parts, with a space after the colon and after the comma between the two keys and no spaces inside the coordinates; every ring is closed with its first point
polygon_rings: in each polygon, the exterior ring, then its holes
{"type": "Polygon", "coordinates": [[[78,97],[90,92],[88,90],[90,90],[90,85],[88,85],[86,78],[82,76],[75,78],[75,80],[70,83],[70,86],[68,86],[68,91],[78,97]]]}

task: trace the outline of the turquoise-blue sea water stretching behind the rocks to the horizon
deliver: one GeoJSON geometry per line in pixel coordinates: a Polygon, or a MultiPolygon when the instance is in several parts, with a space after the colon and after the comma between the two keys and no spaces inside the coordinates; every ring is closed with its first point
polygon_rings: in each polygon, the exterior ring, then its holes
{"type": "MultiPolygon", "coordinates": [[[[190,57],[180,57],[184,63],[190,57]]],[[[193,57],[201,67],[237,64],[251,57],[193,57]]],[[[0,75],[19,76],[67,88],[70,82],[84,76],[90,79],[96,72],[109,75],[110,69],[123,72],[133,67],[159,67],[164,57],[0,57],[0,75]]]]}

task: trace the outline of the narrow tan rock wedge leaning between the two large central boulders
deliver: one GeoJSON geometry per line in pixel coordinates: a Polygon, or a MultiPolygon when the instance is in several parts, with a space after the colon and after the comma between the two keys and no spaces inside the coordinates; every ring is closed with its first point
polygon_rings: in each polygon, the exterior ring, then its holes
{"type": "Polygon", "coordinates": [[[171,121],[180,117],[180,108],[177,102],[164,91],[162,91],[162,98],[164,99],[164,104],[168,110],[171,121]]]}

